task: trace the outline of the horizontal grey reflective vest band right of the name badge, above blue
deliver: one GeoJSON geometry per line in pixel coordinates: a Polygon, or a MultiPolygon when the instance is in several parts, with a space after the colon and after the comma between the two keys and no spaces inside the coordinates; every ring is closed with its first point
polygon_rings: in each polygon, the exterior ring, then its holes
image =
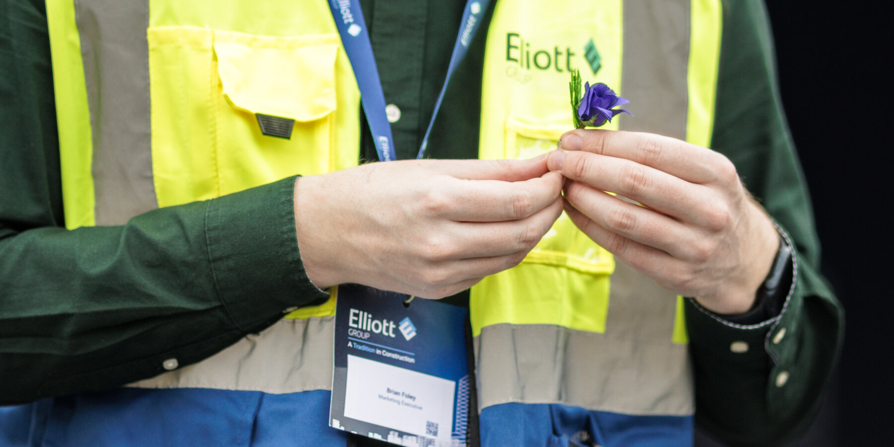
{"type": "Polygon", "coordinates": [[[561,403],[631,415],[695,412],[687,345],[556,325],[492,325],[475,339],[478,409],[561,403]]]}

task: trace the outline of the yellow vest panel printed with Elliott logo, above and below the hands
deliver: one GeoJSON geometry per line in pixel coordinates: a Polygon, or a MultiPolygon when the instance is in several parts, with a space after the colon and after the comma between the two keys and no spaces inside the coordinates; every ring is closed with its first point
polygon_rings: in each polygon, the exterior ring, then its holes
{"type": "MultiPolygon", "coordinates": [[[[556,147],[561,134],[572,127],[569,68],[623,92],[621,13],[620,0],[496,4],[485,49],[481,158],[530,158],[556,147]],[[575,11],[575,26],[556,11],[575,11]],[[595,76],[584,57],[591,38],[602,56],[595,76]]],[[[604,128],[617,129],[618,119],[604,128]]],[[[562,214],[519,266],[472,288],[472,332],[478,335],[487,325],[511,323],[604,333],[613,271],[611,253],[562,214]]]]}

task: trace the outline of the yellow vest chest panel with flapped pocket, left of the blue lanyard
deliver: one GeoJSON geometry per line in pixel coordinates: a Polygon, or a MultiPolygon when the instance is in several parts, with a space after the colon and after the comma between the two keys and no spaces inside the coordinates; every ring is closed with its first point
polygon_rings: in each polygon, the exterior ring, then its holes
{"type": "Polygon", "coordinates": [[[295,8],[149,2],[160,207],[358,163],[359,92],[332,15],[322,3],[295,8]],[[291,139],[262,135],[258,113],[296,120],[291,139]]]}

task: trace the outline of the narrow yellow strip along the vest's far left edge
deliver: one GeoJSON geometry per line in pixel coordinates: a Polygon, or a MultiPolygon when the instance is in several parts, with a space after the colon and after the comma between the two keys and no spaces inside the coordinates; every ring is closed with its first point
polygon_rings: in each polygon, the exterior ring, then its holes
{"type": "Polygon", "coordinates": [[[93,161],[90,110],[74,4],[71,0],[47,0],[46,21],[52,50],[65,226],[71,230],[96,224],[90,171],[93,161]]]}

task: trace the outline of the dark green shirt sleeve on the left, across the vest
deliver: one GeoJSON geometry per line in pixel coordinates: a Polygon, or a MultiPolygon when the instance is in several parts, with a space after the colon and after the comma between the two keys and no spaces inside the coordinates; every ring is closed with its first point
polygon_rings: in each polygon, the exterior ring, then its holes
{"type": "Polygon", "coordinates": [[[49,61],[43,1],[0,3],[0,405],[189,365],[325,298],[294,178],[65,230],[49,61]]]}

